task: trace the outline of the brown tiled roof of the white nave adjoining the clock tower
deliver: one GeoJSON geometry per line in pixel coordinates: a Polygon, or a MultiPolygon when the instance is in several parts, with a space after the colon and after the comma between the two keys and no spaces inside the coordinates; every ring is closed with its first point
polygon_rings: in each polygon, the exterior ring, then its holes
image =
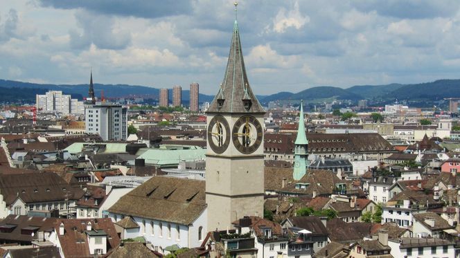
{"type": "Polygon", "coordinates": [[[121,197],[109,212],[190,225],[205,209],[204,181],[154,176],[121,197]]]}

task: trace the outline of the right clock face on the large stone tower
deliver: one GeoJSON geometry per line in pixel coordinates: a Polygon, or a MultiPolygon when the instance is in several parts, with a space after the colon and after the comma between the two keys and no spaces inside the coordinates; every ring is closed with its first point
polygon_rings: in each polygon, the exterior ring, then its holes
{"type": "Polygon", "coordinates": [[[242,116],[233,125],[231,138],[238,151],[251,154],[262,144],[262,125],[254,116],[242,116]]]}

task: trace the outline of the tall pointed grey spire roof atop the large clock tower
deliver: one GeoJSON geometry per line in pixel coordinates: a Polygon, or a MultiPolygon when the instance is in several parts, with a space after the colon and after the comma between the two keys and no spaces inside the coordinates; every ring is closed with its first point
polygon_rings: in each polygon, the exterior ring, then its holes
{"type": "Polygon", "coordinates": [[[225,70],[224,81],[218,94],[209,105],[207,113],[265,113],[256,95],[252,93],[251,86],[249,86],[249,81],[247,80],[237,21],[233,25],[233,36],[231,37],[229,60],[225,70]],[[218,107],[218,99],[224,99],[222,107],[218,107]],[[252,104],[248,110],[245,109],[243,100],[251,100],[252,104]]]}

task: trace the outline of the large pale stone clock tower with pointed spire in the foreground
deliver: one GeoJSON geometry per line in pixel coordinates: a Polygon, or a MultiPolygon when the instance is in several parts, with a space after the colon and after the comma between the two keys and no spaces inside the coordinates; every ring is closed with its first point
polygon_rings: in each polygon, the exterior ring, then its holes
{"type": "Polygon", "coordinates": [[[231,228],[245,215],[263,216],[264,114],[247,80],[235,19],[224,80],[206,111],[208,230],[231,228]]]}

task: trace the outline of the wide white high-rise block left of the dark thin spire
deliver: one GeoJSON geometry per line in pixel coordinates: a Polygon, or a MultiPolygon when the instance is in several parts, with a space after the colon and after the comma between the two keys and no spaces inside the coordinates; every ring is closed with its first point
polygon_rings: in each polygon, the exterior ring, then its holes
{"type": "Polygon", "coordinates": [[[72,99],[71,95],[62,94],[62,91],[48,91],[44,95],[37,94],[35,100],[35,106],[39,112],[85,113],[82,109],[83,102],[72,99]]]}

